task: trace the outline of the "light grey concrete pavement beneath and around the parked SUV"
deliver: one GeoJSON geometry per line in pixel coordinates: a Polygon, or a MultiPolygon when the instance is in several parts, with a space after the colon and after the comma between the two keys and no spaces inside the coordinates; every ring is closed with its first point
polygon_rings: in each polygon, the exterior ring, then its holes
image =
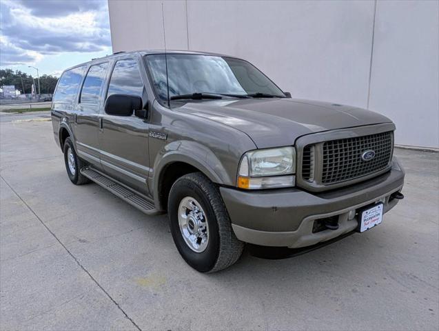
{"type": "Polygon", "coordinates": [[[0,134],[1,330],[439,328],[438,153],[396,150],[406,199],[377,228],[200,274],[165,216],[70,183],[50,122],[0,134]]]}

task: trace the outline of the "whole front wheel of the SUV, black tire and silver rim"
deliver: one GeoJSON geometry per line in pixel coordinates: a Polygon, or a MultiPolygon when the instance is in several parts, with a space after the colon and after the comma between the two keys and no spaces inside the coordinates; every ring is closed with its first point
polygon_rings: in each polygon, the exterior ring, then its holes
{"type": "Polygon", "coordinates": [[[216,185],[200,172],[172,185],[167,212],[178,252],[199,272],[216,272],[235,263],[243,252],[216,185]]]}

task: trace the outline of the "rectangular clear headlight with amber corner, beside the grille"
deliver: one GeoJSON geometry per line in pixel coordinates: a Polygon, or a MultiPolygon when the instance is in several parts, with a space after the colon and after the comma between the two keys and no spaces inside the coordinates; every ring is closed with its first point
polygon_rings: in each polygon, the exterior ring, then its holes
{"type": "Polygon", "coordinates": [[[294,186],[296,150],[289,147],[253,150],[243,155],[238,188],[286,188],[294,186]]]}

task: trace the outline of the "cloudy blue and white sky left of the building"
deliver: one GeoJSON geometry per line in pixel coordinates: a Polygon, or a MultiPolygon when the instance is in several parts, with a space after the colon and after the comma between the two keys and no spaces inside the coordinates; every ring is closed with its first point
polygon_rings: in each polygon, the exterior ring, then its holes
{"type": "Polygon", "coordinates": [[[0,67],[56,74],[111,54],[107,0],[1,0],[0,67]]]}

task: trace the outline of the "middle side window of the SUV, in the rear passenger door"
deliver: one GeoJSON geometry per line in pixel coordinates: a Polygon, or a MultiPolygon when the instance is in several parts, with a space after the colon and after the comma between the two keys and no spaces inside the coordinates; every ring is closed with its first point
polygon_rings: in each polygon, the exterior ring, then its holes
{"type": "Polygon", "coordinates": [[[108,63],[96,64],[90,67],[82,86],[80,103],[98,104],[107,67],[108,63]]]}

